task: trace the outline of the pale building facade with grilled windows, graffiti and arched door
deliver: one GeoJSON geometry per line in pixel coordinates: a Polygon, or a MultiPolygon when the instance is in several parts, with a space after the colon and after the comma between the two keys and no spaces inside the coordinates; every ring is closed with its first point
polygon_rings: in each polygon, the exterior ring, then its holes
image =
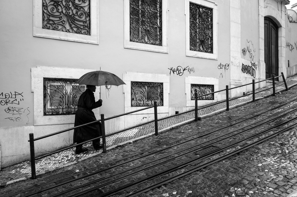
{"type": "MultiPolygon", "coordinates": [[[[99,119],[158,103],[158,117],[193,109],[199,94],[297,73],[297,23],[288,0],[32,0],[0,2],[1,167],[29,159],[29,133],[74,126],[83,74],[126,85],[97,88],[99,119]]],[[[265,82],[256,88],[264,87],[265,82]]],[[[230,97],[251,91],[236,88],[230,97]]],[[[214,93],[199,106],[221,101],[214,93]]],[[[112,119],[106,133],[153,120],[112,119]]],[[[73,130],[36,141],[36,155],[69,146],[73,130]]]]}

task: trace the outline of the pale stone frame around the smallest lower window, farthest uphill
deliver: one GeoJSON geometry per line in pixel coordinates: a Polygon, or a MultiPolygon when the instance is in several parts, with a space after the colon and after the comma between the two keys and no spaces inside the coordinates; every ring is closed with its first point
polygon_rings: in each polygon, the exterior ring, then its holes
{"type": "MultiPolygon", "coordinates": [[[[219,79],[212,77],[185,77],[185,93],[187,99],[187,107],[195,107],[195,100],[191,100],[191,84],[208,84],[214,85],[214,91],[219,90],[219,79]]],[[[198,100],[198,106],[212,104],[218,101],[218,93],[214,93],[214,100],[198,100]]]]}

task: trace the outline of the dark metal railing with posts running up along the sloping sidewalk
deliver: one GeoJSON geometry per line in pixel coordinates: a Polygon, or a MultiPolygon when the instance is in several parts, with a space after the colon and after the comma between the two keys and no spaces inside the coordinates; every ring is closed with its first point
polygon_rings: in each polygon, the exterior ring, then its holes
{"type": "Polygon", "coordinates": [[[245,84],[245,85],[240,85],[240,86],[233,87],[233,88],[229,88],[228,85],[226,85],[226,89],[219,90],[219,91],[214,91],[214,92],[203,94],[203,95],[199,95],[199,96],[198,96],[198,93],[195,92],[195,109],[192,109],[192,110],[189,110],[189,111],[186,111],[186,112],[182,112],[182,113],[179,113],[179,114],[174,114],[174,115],[167,116],[167,117],[160,118],[160,119],[158,119],[158,114],[157,114],[157,101],[154,101],[154,106],[149,106],[149,107],[146,107],[146,108],[143,108],[143,109],[134,110],[132,112],[127,112],[127,113],[124,113],[124,114],[119,114],[119,115],[116,115],[116,116],[113,116],[113,117],[109,117],[109,118],[106,118],[106,119],[104,118],[104,114],[101,114],[101,119],[100,120],[89,122],[89,123],[86,123],[86,124],[83,124],[83,125],[79,125],[79,126],[76,126],[76,127],[69,128],[69,129],[61,130],[61,131],[58,131],[56,133],[52,133],[52,134],[49,134],[49,135],[44,135],[44,136],[39,137],[39,138],[35,138],[34,139],[33,133],[30,133],[29,134],[29,140],[28,141],[30,142],[31,178],[32,179],[36,179],[35,160],[42,159],[42,158],[44,158],[46,156],[50,156],[52,154],[56,154],[56,153],[59,153],[59,152],[64,151],[64,150],[67,150],[67,149],[70,149],[70,148],[74,148],[76,146],[80,146],[80,145],[82,145],[84,143],[88,143],[88,142],[91,142],[91,141],[94,141],[94,140],[97,140],[97,139],[102,138],[103,153],[106,153],[106,137],[108,137],[108,136],[115,135],[117,133],[121,133],[123,131],[133,129],[135,127],[140,127],[142,125],[146,125],[146,124],[151,123],[151,122],[154,122],[155,123],[155,135],[158,135],[158,121],[160,121],[160,120],[165,120],[165,119],[170,118],[170,117],[174,117],[174,116],[178,116],[178,115],[181,115],[181,114],[185,114],[185,113],[189,113],[189,112],[195,111],[195,120],[194,121],[198,121],[198,110],[200,110],[200,109],[204,109],[204,108],[207,108],[207,107],[210,107],[210,106],[214,106],[214,105],[217,105],[217,104],[226,102],[226,111],[229,111],[229,101],[232,101],[234,99],[238,99],[238,98],[241,98],[241,97],[248,96],[248,95],[251,95],[252,94],[253,95],[253,101],[255,101],[255,94],[256,93],[260,93],[262,91],[269,90],[271,88],[273,88],[273,96],[275,96],[275,88],[278,87],[278,86],[280,86],[280,85],[284,85],[284,84],[285,84],[285,88],[286,88],[286,91],[287,91],[288,90],[288,87],[287,87],[287,83],[286,83],[284,74],[282,73],[282,75],[279,75],[277,77],[275,77],[274,75],[272,75],[271,78],[268,78],[268,79],[265,79],[265,80],[262,80],[262,81],[258,81],[258,82],[255,82],[255,80],[253,79],[252,83],[248,83],[248,84],[245,84]],[[283,79],[284,83],[275,86],[275,78],[281,77],[281,76],[282,76],[282,79],[283,79]],[[266,81],[266,80],[271,80],[271,79],[272,79],[272,87],[271,88],[267,88],[267,89],[264,89],[264,90],[255,92],[255,84],[256,83],[260,83],[260,82],[263,82],[263,81],[266,81]],[[247,86],[247,85],[252,85],[252,93],[245,94],[243,96],[238,96],[238,97],[229,99],[229,90],[232,90],[232,89],[235,89],[235,88],[240,88],[240,87],[247,86]],[[226,91],[226,100],[219,101],[219,102],[216,102],[216,103],[209,104],[209,105],[206,105],[206,106],[203,106],[203,107],[198,108],[198,97],[207,96],[209,94],[214,94],[214,93],[218,93],[218,92],[222,92],[222,91],[226,91]],[[139,111],[142,111],[142,110],[150,109],[150,108],[153,108],[153,107],[154,107],[154,120],[151,120],[151,121],[148,121],[148,122],[145,122],[145,123],[142,123],[140,125],[133,126],[133,127],[129,127],[129,128],[126,128],[126,129],[117,131],[117,132],[112,133],[112,134],[105,135],[105,120],[110,120],[110,119],[121,117],[121,116],[124,116],[124,115],[127,115],[127,114],[132,114],[132,113],[139,112],[139,111]],[[94,139],[91,139],[91,140],[88,140],[88,141],[84,141],[82,143],[78,143],[76,145],[69,146],[67,148],[62,148],[62,149],[60,149],[58,151],[54,151],[54,152],[51,152],[49,154],[45,154],[43,156],[35,157],[34,141],[41,140],[43,138],[47,138],[47,137],[50,137],[50,136],[53,136],[53,135],[64,133],[66,131],[70,131],[70,130],[73,130],[75,128],[83,127],[83,126],[90,125],[90,124],[93,124],[93,123],[96,123],[96,122],[100,122],[100,121],[101,121],[101,127],[102,127],[102,136],[97,137],[97,138],[94,138],[94,139]]]}

